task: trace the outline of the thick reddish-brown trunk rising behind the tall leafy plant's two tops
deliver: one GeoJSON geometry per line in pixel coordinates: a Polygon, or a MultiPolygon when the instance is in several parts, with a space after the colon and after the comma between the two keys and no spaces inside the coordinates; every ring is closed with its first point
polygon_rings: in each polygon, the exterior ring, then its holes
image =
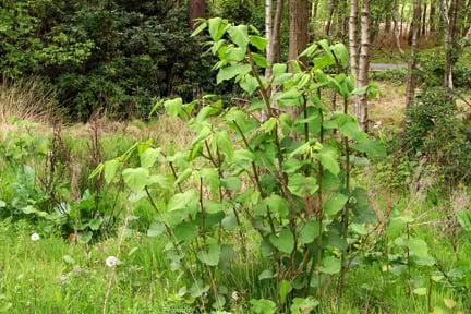
{"type": "Polygon", "coordinates": [[[288,59],[297,60],[309,43],[309,0],[290,0],[290,36],[288,59]]]}

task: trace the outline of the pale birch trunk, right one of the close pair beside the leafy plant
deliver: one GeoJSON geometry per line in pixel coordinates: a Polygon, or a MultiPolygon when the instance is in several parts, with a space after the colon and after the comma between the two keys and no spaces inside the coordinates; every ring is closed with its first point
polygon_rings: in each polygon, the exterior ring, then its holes
{"type": "MultiPolygon", "coordinates": [[[[371,15],[370,15],[370,1],[364,0],[361,13],[361,48],[360,48],[360,61],[359,61],[359,76],[358,86],[365,87],[369,84],[369,71],[370,71],[370,39],[371,39],[371,15]]],[[[369,116],[367,116],[367,97],[362,95],[359,104],[360,112],[360,125],[361,129],[367,132],[369,116]]]]}

